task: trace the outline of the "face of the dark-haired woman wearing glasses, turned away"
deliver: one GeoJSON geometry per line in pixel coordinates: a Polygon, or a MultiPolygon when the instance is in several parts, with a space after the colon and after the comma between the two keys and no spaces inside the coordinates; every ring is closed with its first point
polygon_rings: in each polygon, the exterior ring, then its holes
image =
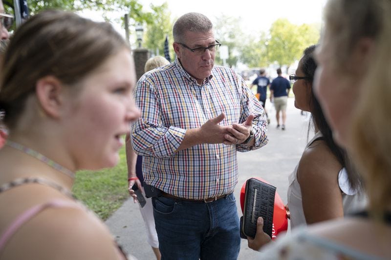
{"type": "MultiPolygon", "coordinates": [[[[298,77],[305,77],[303,71],[302,71],[302,64],[303,59],[299,61],[299,65],[296,69],[296,76],[298,77]]],[[[301,109],[303,111],[310,111],[309,107],[309,100],[311,98],[311,92],[312,92],[312,83],[308,83],[306,80],[296,80],[295,83],[293,83],[292,91],[293,94],[295,94],[295,107],[298,109],[301,109]]]]}

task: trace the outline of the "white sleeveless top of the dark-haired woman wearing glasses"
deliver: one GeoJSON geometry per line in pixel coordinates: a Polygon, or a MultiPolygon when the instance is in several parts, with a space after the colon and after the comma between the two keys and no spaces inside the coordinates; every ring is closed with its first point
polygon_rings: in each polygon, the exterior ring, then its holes
{"type": "MultiPolygon", "coordinates": [[[[320,132],[316,133],[315,136],[308,142],[308,147],[314,140],[322,137],[320,132]]],[[[289,187],[288,187],[288,207],[290,211],[290,227],[295,228],[299,225],[306,225],[303,203],[302,203],[302,191],[300,189],[299,181],[297,180],[297,167],[289,175],[289,187]]],[[[342,204],[344,208],[344,215],[356,212],[363,209],[366,206],[367,198],[364,192],[357,192],[350,189],[348,182],[348,174],[345,168],[342,168],[338,174],[338,184],[342,190],[342,204]]]]}

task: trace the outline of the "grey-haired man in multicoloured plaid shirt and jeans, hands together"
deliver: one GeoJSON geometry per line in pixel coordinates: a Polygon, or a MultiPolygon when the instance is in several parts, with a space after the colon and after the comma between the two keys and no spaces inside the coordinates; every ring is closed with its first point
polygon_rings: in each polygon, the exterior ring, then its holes
{"type": "Polygon", "coordinates": [[[159,249],[162,259],[237,259],[237,151],[267,143],[264,110],[238,74],[214,66],[221,44],[207,17],[181,16],[173,35],[177,57],[137,82],[142,115],[131,125],[145,182],[161,191],[159,249]]]}

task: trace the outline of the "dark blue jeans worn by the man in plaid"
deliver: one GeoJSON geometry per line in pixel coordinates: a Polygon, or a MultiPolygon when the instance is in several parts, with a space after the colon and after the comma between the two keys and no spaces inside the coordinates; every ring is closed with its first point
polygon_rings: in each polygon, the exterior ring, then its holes
{"type": "Polygon", "coordinates": [[[236,260],[240,249],[234,194],[205,203],[152,198],[162,260],[236,260]]]}

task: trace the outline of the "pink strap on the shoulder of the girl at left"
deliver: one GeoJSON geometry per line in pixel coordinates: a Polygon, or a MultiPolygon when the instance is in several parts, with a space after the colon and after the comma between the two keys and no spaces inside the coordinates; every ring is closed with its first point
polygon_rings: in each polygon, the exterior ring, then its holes
{"type": "Polygon", "coordinates": [[[40,212],[46,208],[82,208],[81,205],[78,205],[74,201],[66,200],[52,200],[43,204],[33,206],[22,214],[20,214],[4,231],[0,237],[0,252],[4,248],[7,241],[15,234],[15,232],[28,220],[32,219],[34,216],[38,215],[40,212]]]}

